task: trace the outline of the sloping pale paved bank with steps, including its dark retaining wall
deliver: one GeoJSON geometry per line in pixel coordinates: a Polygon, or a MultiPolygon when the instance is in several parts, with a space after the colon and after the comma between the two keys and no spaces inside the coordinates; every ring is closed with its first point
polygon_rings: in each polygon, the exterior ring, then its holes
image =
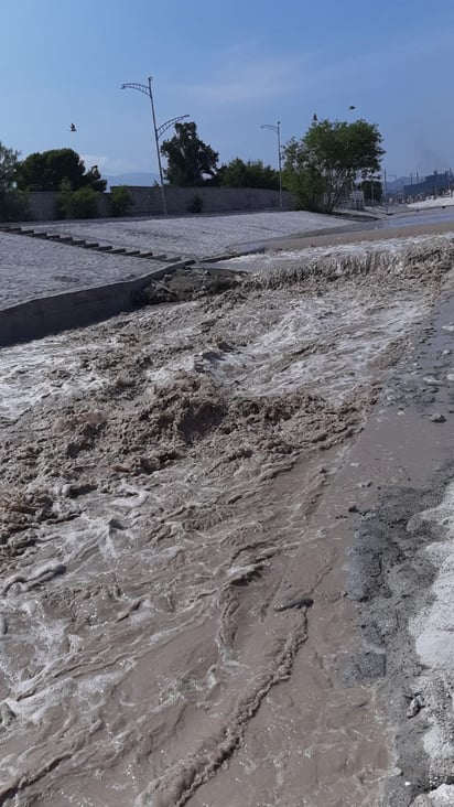
{"type": "Polygon", "coordinates": [[[150,280],[176,267],[242,251],[261,238],[324,230],[335,222],[290,212],[6,226],[0,345],[106,320],[131,310],[150,280]]]}

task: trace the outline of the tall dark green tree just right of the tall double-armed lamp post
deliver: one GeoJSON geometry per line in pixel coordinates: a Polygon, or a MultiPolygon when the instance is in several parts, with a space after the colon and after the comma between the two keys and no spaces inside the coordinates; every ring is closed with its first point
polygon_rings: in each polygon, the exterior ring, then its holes
{"type": "Polygon", "coordinates": [[[161,153],[167,159],[165,176],[171,185],[194,187],[205,176],[215,176],[219,154],[197,137],[194,122],[175,123],[175,134],[164,140],[161,153]]]}

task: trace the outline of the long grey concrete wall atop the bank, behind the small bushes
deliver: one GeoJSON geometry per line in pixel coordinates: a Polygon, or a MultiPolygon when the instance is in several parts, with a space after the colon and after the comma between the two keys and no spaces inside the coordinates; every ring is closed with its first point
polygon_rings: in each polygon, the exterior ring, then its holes
{"type": "MultiPolygon", "coordinates": [[[[132,186],[133,216],[162,215],[161,189],[132,186]]],[[[36,191],[28,194],[29,218],[32,222],[51,222],[55,219],[55,204],[58,194],[36,191]]],[[[240,211],[279,209],[279,191],[253,187],[166,187],[165,202],[170,215],[187,216],[195,197],[199,197],[201,213],[234,213],[240,211]]],[[[282,193],[283,209],[295,208],[295,200],[291,193],[282,193]]],[[[98,200],[98,216],[110,215],[110,194],[102,193],[98,200]]]]}

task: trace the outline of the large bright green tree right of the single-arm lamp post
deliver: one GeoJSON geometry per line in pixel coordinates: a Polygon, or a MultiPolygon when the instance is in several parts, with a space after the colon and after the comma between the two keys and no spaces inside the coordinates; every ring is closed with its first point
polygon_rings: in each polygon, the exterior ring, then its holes
{"type": "Polygon", "coordinates": [[[375,123],[314,120],[284,147],[284,183],[310,211],[332,213],[358,179],[380,168],[382,137],[375,123]]]}

